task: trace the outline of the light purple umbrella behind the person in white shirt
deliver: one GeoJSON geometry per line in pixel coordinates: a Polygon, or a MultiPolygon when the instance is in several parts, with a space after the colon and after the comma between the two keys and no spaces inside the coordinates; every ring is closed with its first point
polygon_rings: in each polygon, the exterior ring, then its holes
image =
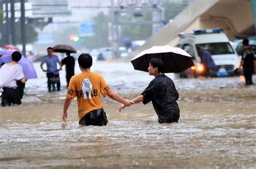
{"type": "MultiPolygon", "coordinates": [[[[8,64],[9,62],[12,61],[11,54],[13,52],[15,52],[15,51],[8,50],[8,51],[4,52],[1,59],[4,61],[5,64],[8,64]]],[[[22,56],[21,60],[18,61],[18,64],[22,66],[26,80],[37,79],[36,70],[30,60],[28,60],[22,56]]]]}

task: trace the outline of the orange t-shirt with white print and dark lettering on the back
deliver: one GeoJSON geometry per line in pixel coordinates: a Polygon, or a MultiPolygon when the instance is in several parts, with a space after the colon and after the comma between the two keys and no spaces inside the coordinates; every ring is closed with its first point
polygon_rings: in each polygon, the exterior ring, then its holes
{"type": "Polygon", "coordinates": [[[110,90],[102,75],[94,72],[83,72],[72,76],[66,96],[72,100],[77,97],[80,120],[88,112],[103,108],[99,96],[102,94],[105,97],[110,90]]]}

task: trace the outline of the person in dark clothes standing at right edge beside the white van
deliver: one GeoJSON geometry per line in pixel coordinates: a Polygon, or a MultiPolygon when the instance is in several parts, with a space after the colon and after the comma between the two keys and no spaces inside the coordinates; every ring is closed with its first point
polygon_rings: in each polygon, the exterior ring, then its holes
{"type": "Polygon", "coordinates": [[[254,72],[254,55],[250,50],[248,39],[242,41],[242,47],[244,47],[244,51],[242,51],[240,66],[244,71],[246,85],[253,85],[252,74],[254,72]]]}

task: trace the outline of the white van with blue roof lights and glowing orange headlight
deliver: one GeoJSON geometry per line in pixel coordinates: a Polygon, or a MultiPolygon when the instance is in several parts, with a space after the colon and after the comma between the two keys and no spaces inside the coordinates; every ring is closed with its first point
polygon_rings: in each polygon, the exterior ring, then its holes
{"type": "Polygon", "coordinates": [[[187,69],[186,75],[201,75],[205,68],[200,64],[200,45],[205,44],[210,51],[217,71],[210,71],[210,76],[232,76],[239,72],[241,58],[233,50],[223,29],[194,30],[193,32],[183,32],[179,34],[177,47],[189,53],[194,60],[194,67],[187,69]]]}

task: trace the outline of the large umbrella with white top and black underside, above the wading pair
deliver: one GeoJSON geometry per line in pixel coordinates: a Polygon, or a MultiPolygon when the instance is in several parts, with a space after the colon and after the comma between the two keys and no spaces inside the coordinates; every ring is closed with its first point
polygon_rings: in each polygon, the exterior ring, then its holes
{"type": "Polygon", "coordinates": [[[134,69],[148,72],[150,59],[161,58],[164,62],[164,73],[180,73],[194,66],[190,54],[178,47],[153,46],[134,57],[131,62],[134,69]]]}

